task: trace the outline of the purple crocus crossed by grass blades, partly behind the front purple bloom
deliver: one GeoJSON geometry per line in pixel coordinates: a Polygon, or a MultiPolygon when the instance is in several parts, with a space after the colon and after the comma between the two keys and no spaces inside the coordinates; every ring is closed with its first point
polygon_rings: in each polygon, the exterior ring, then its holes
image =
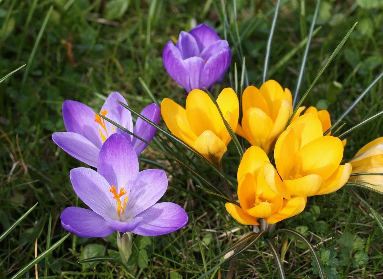
{"type": "MultiPolygon", "coordinates": [[[[127,104],[123,96],[113,92],[106,98],[100,114],[150,142],[154,137],[156,128],[138,118],[133,129],[130,111],[117,103],[116,100],[127,104]]],[[[160,120],[160,109],[154,103],[144,108],[141,114],[157,124],[160,120]]],[[[147,146],[136,137],[105,121],[87,105],[77,101],[66,100],[62,104],[62,116],[67,131],[53,133],[53,141],[70,156],[90,166],[97,167],[100,148],[103,142],[114,133],[124,135],[136,150],[137,156],[147,146]]]]}

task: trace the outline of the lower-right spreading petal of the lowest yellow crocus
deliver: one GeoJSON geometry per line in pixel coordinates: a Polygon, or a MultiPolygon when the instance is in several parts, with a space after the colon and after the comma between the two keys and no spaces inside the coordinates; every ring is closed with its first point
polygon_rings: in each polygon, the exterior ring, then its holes
{"type": "Polygon", "coordinates": [[[293,197],[292,199],[283,200],[282,209],[279,212],[275,212],[266,219],[269,224],[275,224],[284,219],[293,217],[300,214],[304,207],[306,207],[306,197],[293,197]]]}

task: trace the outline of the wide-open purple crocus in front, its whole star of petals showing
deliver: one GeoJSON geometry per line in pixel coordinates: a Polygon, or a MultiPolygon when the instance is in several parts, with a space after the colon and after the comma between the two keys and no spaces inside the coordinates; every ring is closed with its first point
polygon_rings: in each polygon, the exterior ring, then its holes
{"type": "Polygon", "coordinates": [[[138,171],[136,151],[123,135],[113,134],[101,147],[97,171],[74,168],[70,181],[90,208],[67,207],[61,213],[65,230],[80,237],[106,237],[113,232],[162,235],[188,221],[182,207],[159,202],[167,189],[163,170],[138,171]]]}

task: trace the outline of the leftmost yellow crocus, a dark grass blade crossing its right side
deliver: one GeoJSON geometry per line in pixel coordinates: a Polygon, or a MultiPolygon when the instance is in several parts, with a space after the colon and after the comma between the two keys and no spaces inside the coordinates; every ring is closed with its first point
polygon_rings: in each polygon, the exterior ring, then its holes
{"type": "MultiPolygon", "coordinates": [[[[239,116],[237,94],[224,88],[217,98],[224,119],[236,131],[239,116]]],[[[165,98],[161,114],[166,126],[176,137],[193,147],[212,163],[221,162],[231,136],[221,115],[209,95],[199,89],[192,90],[186,99],[186,109],[165,98]]]]}

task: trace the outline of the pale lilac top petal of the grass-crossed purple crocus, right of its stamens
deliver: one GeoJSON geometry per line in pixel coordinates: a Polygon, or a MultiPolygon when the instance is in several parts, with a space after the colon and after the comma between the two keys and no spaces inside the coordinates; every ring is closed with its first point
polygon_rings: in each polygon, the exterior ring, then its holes
{"type": "MultiPolygon", "coordinates": [[[[133,131],[133,121],[132,121],[132,115],[130,111],[121,104],[119,104],[116,100],[120,101],[121,103],[126,103],[126,100],[123,96],[121,96],[118,92],[112,92],[106,98],[105,103],[103,104],[101,111],[106,110],[108,113],[105,115],[110,120],[116,122],[117,124],[120,124],[124,128],[128,129],[129,131],[133,131]]],[[[112,134],[112,124],[110,124],[108,121],[105,121],[105,126],[108,129],[109,134],[112,134]]],[[[115,128],[115,127],[114,127],[115,128]]],[[[130,135],[129,135],[130,137],[130,135]]]]}

